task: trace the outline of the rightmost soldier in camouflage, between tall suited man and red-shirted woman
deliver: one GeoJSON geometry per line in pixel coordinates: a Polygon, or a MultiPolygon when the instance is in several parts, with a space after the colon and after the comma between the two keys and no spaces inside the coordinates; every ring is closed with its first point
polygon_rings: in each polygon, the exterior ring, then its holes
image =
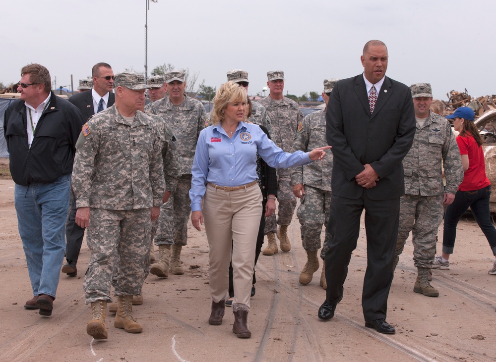
{"type": "Polygon", "coordinates": [[[413,291],[428,297],[439,292],[429,282],[435,256],[437,229],[443,213],[442,204],[453,202],[463,180],[463,168],[449,122],[429,110],[432,90],[429,83],[411,86],[417,130],[413,146],[403,159],[405,195],[400,200],[398,239],[394,252],[396,267],[406,239],[413,230],[413,260],[418,276],[413,291]],[[441,179],[444,162],[446,187],[441,179]]]}

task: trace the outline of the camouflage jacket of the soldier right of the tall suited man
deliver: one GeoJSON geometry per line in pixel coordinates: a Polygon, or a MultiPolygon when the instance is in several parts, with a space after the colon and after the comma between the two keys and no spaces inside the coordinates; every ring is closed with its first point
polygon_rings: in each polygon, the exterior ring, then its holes
{"type": "Polygon", "coordinates": [[[444,192],[455,194],[463,180],[463,166],[446,118],[429,112],[424,127],[417,130],[413,146],[403,159],[405,194],[434,196],[444,192]],[[441,160],[444,162],[446,190],[441,179],[441,160]]]}

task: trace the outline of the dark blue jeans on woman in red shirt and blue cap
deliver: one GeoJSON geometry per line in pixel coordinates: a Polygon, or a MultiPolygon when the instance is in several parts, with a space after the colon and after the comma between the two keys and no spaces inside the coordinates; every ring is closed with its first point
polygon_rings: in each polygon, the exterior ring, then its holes
{"type": "Polygon", "coordinates": [[[444,231],[442,234],[442,252],[453,254],[456,239],[456,225],[460,217],[472,209],[475,221],[479,224],[484,235],[489,241],[493,255],[496,255],[496,229],[491,222],[489,212],[489,198],[491,197],[491,185],[474,191],[457,191],[455,200],[446,207],[444,214],[444,231]]]}

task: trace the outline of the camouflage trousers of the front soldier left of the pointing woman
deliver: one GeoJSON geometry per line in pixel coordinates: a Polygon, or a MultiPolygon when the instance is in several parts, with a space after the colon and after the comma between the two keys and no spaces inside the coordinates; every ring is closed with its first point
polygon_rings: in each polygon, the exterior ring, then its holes
{"type": "Polygon", "coordinates": [[[138,295],[150,264],[150,209],[90,208],[86,242],[91,251],[84,276],[85,302],[112,302],[110,286],[117,263],[115,295],[138,295]],[[117,253],[116,253],[117,252],[117,253]]]}

